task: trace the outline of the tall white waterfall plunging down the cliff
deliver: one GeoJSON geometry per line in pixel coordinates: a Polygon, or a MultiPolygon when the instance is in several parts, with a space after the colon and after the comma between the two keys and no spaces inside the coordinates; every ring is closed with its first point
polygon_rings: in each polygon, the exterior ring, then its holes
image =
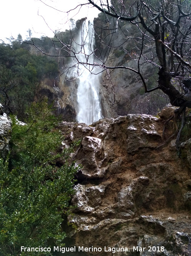
{"type": "MultiPolygon", "coordinates": [[[[92,54],[94,44],[93,26],[91,22],[86,20],[82,24],[82,30],[79,31],[79,35],[73,45],[79,62],[94,63],[95,56],[92,54]]],[[[77,90],[77,120],[87,125],[103,118],[99,97],[99,71],[99,69],[87,64],[79,64],[78,68],[72,71],[72,76],[78,75],[79,81],[77,90]]]]}

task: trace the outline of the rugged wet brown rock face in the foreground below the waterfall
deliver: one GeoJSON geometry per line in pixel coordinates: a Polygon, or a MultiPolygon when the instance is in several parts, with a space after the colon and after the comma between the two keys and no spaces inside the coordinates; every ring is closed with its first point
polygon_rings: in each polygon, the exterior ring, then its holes
{"type": "MultiPolygon", "coordinates": [[[[69,228],[68,236],[72,245],[90,248],[82,255],[191,255],[191,139],[181,144],[181,158],[174,140],[155,150],[164,143],[169,111],[89,127],[61,124],[63,146],[81,139],[73,153],[82,165],[71,202],[76,207],[68,218],[78,229],[69,228]],[[92,252],[92,246],[102,251],[92,252]]],[[[171,122],[167,133],[173,133],[171,122]]]]}

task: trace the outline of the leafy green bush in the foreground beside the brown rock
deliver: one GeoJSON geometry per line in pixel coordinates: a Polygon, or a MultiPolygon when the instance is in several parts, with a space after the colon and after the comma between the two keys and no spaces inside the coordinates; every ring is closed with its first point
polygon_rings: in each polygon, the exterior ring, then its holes
{"type": "Polygon", "coordinates": [[[11,153],[9,159],[0,159],[3,255],[18,255],[21,246],[62,245],[66,236],[61,228],[62,218],[70,209],[74,173],[78,170],[67,161],[72,147],[53,153],[61,144],[62,135],[55,129],[58,118],[53,116],[47,101],[33,103],[27,113],[26,125],[19,125],[12,118],[11,153]],[[58,164],[60,158],[62,164],[58,164]]]}

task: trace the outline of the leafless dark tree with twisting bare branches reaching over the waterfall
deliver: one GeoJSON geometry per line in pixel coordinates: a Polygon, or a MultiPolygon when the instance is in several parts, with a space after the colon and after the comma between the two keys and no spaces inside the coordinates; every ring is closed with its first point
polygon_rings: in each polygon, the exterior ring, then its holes
{"type": "MultiPolygon", "coordinates": [[[[79,68],[79,64],[83,64],[90,72],[91,66],[99,66],[102,71],[107,71],[108,75],[113,69],[127,69],[139,76],[146,93],[162,90],[169,97],[170,103],[179,107],[175,112],[182,118],[176,142],[176,147],[180,150],[179,140],[180,132],[185,125],[185,109],[191,108],[191,1],[87,0],[75,9],[79,8],[80,11],[83,5],[97,8],[104,17],[102,24],[94,24],[97,45],[95,50],[92,49],[91,55],[95,56],[95,62],[89,63],[89,55],[86,54],[84,61],[79,60],[80,52],[76,52],[72,45],[75,41],[72,31],[67,42],[55,34],[56,40],[53,40],[52,44],[59,51],[57,56],[63,57],[64,60],[70,58],[70,63],[73,63],[65,66],[64,72],[67,74],[73,66],[79,68]],[[131,24],[138,33],[134,35],[128,29],[124,29],[121,22],[131,24]],[[124,40],[120,41],[120,45],[116,45],[112,38],[116,38],[119,30],[123,33],[124,40]],[[128,40],[134,40],[135,50],[128,51],[123,47],[128,40]],[[108,64],[110,51],[117,47],[122,48],[129,58],[134,58],[137,68],[108,64]],[[142,67],[148,63],[159,69],[158,85],[149,89],[145,74],[142,72],[142,67]]],[[[78,28],[79,26],[82,31],[85,29],[83,23],[78,24],[78,28]]],[[[34,44],[32,41],[31,43],[34,44]]],[[[81,53],[85,43],[85,40],[81,41],[81,53]]]]}

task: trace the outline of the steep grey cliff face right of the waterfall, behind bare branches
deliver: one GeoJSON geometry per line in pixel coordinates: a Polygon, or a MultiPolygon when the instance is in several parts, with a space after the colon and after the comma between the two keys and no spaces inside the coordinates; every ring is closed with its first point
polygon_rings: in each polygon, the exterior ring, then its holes
{"type": "MultiPolygon", "coordinates": [[[[114,32],[112,29],[116,27],[116,21],[110,18],[109,22],[105,24],[105,20],[107,18],[104,13],[100,13],[94,19],[97,54],[101,53],[102,58],[106,61],[104,63],[106,66],[123,66],[137,71],[140,45],[133,37],[141,38],[140,31],[129,22],[119,21],[118,29],[114,32]],[[104,30],[105,28],[106,30],[104,30]],[[112,34],[112,32],[114,33],[112,34]],[[100,38],[104,43],[99,44],[100,38]],[[111,47],[108,48],[108,45],[111,47]]],[[[157,72],[159,69],[146,61],[146,59],[156,61],[155,54],[152,53],[152,45],[147,46],[148,49],[144,52],[145,58],[140,58],[139,64],[147,88],[151,89],[158,85],[157,72]]],[[[145,94],[139,75],[122,68],[113,69],[109,75],[105,71],[102,73],[100,95],[104,117],[108,118],[126,114],[157,114],[159,109],[167,104],[165,97],[161,97],[162,91],[157,90],[145,94]]]]}

